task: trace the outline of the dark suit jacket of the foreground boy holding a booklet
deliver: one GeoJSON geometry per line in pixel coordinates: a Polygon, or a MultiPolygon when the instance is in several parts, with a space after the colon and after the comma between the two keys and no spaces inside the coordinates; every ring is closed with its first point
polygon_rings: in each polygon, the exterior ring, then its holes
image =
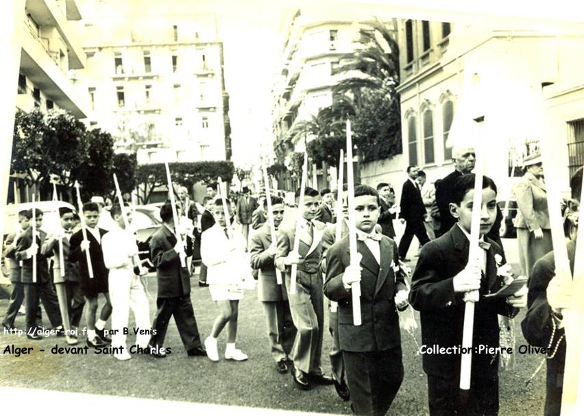
{"type": "MultiPolygon", "coordinates": [[[[495,254],[502,256],[502,249],[490,238],[487,252],[486,273],[481,280],[480,295],[500,288],[495,254]]],[[[452,280],[462,271],[468,261],[470,243],[458,225],[426,243],[412,276],[409,302],[419,310],[422,323],[422,344],[428,347],[453,347],[462,344],[465,303],[462,293],[454,293],[452,280]]],[[[474,307],[473,345],[499,346],[499,323],[497,315],[514,317],[517,308],[512,308],[504,298],[481,297],[474,307]]],[[[431,376],[457,377],[460,374],[460,354],[424,354],[424,371],[431,376]]],[[[491,354],[472,356],[472,374],[489,376],[498,371],[498,360],[491,354]]]]}

